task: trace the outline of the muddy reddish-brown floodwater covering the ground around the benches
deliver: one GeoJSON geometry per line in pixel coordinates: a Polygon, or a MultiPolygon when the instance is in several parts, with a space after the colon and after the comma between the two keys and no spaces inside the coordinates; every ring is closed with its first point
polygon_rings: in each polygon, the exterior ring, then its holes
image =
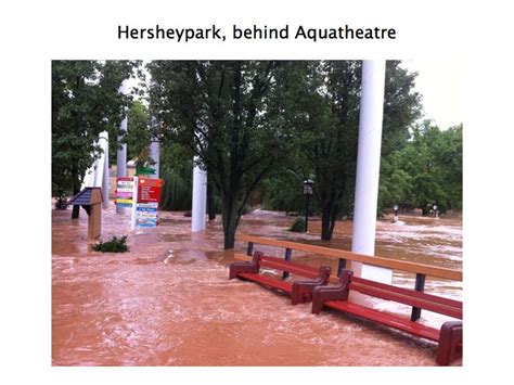
{"type": "MultiPolygon", "coordinates": [[[[462,269],[462,218],[380,220],[376,255],[462,269]]],[[[183,213],[160,213],[156,229],[129,231],[129,216],[102,211],[102,239],[128,235],[129,253],[98,253],[87,240],[87,215],[52,210],[53,365],[434,365],[436,345],[340,312],[310,313],[280,293],[229,281],[233,252],[222,249],[220,219],[190,233],[183,213]]],[[[338,222],[332,242],[285,231],[294,218],[254,211],[239,231],[351,248],[351,221],[338,222]]],[[[236,252],[244,253],[237,243],[236,252]]],[[[258,247],[269,254],[283,251],[258,247]]],[[[306,264],[335,261],[294,254],[306,264]]],[[[395,273],[394,283],[413,286],[395,273]]],[[[462,283],[427,280],[426,292],[462,299],[462,283]]],[[[384,301],[376,307],[410,312],[384,301]]],[[[421,322],[447,320],[423,311],[421,322]]],[[[458,360],[453,364],[462,364],[458,360]]]]}

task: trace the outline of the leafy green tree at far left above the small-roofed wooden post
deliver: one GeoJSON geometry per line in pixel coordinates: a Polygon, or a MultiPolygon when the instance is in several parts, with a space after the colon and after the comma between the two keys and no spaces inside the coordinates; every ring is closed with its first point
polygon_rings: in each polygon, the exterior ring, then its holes
{"type": "MultiPolygon", "coordinates": [[[[137,62],[52,62],[52,194],[78,193],[100,132],[117,138],[130,97],[118,93],[137,62]]],[[[78,215],[78,211],[74,215],[78,215]]]]}

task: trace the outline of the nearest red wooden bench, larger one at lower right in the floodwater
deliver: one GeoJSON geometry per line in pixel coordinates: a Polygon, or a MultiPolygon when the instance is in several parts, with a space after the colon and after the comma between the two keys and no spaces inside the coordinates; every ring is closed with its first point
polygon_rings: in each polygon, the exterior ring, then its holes
{"type": "Polygon", "coordinates": [[[406,317],[348,301],[350,291],[462,320],[462,301],[354,277],[349,270],[342,270],[337,284],[319,286],[312,291],[312,313],[318,315],[323,307],[327,307],[437,342],[436,361],[440,365],[448,365],[455,350],[462,347],[462,321],[447,321],[438,330],[406,317]]]}

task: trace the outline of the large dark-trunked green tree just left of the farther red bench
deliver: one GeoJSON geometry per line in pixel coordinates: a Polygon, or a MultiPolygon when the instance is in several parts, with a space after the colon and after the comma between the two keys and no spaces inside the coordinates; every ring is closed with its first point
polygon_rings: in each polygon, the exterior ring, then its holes
{"type": "Polygon", "coordinates": [[[224,247],[250,192],[286,156],[287,127],[274,93],[280,62],[155,61],[149,64],[155,115],[164,138],[187,145],[222,201],[224,247]]]}

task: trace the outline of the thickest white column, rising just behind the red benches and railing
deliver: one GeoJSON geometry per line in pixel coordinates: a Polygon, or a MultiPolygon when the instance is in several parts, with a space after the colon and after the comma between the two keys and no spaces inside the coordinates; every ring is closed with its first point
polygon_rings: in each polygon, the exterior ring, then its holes
{"type": "MultiPolygon", "coordinates": [[[[385,61],[363,61],[351,251],[375,254],[376,208],[384,113],[385,61]]],[[[352,262],[358,277],[390,283],[389,269],[352,262]]]]}

